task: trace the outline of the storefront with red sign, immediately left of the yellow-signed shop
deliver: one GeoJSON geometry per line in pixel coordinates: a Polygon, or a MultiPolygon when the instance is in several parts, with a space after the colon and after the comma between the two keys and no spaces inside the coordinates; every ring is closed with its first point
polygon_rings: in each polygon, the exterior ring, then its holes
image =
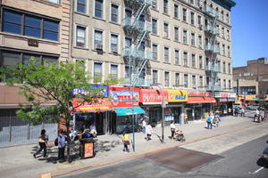
{"type": "Polygon", "coordinates": [[[153,127],[160,125],[162,121],[162,98],[168,100],[167,91],[161,90],[160,88],[151,89],[140,89],[139,102],[140,107],[145,110],[147,122],[153,127]]]}

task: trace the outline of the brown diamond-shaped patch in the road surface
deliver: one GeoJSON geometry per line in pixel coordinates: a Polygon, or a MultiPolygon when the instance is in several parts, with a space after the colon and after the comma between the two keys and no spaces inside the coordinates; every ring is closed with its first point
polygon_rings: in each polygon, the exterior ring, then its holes
{"type": "Polygon", "coordinates": [[[179,171],[180,173],[184,173],[197,166],[205,165],[214,159],[222,157],[176,147],[147,155],[144,158],[152,160],[157,164],[171,168],[175,171],[179,171]]]}

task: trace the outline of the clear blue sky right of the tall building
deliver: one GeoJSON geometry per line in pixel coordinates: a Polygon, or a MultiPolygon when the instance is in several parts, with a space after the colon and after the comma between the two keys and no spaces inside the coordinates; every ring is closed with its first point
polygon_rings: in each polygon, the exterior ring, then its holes
{"type": "Polygon", "coordinates": [[[233,67],[268,58],[268,0],[233,0],[231,37],[233,67]]]}

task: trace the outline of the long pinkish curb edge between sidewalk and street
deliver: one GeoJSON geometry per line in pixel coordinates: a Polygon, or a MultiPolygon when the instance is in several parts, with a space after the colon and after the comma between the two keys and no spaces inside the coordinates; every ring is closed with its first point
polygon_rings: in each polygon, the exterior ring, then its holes
{"type": "MultiPolygon", "coordinates": [[[[99,167],[99,166],[106,166],[106,165],[110,165],[110,164],[113,164],[113,163],[121,162],[123,160],[130,159],[130,158],[144,157],[144,156],[150,155],[152,153],[157,153],[157,152],[160,152],[160,151],[163,151],[163,150],[169,150],[169,149],[172,149],[172,148],[175,148],[175,147],[178,147],[178,146],[182,146],[182,145],[187,145],[187,144],[190,144],[190,143],[193,143],[193,142],[204,141],[204,140],[211,139],[211,138],[223,135],[223,134],[235,133],[235,132],[238,132],[240,130],[250,128],[250,127],[253,127],[253,126],[256,126],[256,125],[259,125],[259,124],[255,123],[254,125],[247,125],[247,126],[243,126],[243,127],[234,127],[230,131],[222,132],[220,134],[214,134],[212,136],[200,137],[200,138],[194,139],[194,140],[189,141],[189,142],[179,142],[179,143],[176,143],[176,144],[174,144],[172,146],[167,146],[167,147],[164,147],[164,148],[161,148],[161,149],[149,150],[149,151],[146,151],[146,152],[143,152],[143,153],[137,153],[137,154],[130,155],[130,156],[127,156],[127,157],[123,157],[123,158],[115,158],[115,159],[108,160],[108,161],[105,161],[105,162],[102,162],[102,163],[98,163],[98,164],[92,165],[92,166],[83,166],[83,167],[80,167],[80,168],[67,170],[67,171],[63,171],[63,172],[58,172],[58,173],[54,173],[54,174],[53,173],[48,173],[51,176],[46,177],[46,178],[52,178],[52,177],[62,176],[62,175],[65,175],[65,174],[71,174],[71,173],[74,173],[74,172],[80,172],[80,171],[87,170],[88,168],[96,168],[96,167],[99,167]]],[[[43,175],[45,175],[45,174],[42,174],[40,176],[40,178],[43,178],[43,175]]]]}

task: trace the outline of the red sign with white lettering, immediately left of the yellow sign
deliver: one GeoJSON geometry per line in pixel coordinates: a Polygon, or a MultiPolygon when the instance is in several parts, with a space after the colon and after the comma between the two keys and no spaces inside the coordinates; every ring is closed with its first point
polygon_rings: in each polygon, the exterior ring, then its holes
{"type": "Polygon", "coordinates": [[[168,93],[165,90],[157,89],[140,89],[139,102],[143,104],[161,104],[162,97],[168,100],[168,93]]]}

